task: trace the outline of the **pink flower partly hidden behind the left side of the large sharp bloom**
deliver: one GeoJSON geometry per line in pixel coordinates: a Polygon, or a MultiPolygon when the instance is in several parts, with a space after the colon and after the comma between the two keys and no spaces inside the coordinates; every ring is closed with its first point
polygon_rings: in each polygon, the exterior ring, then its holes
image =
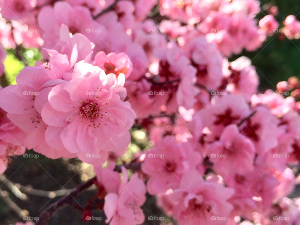
{"type": "MultiPolygon", "coordinates": [[[[47,125],[41,118],[42,106],[54,85],[63,82],[54,80],[56,74],[42,67],[25,67],[17,76],[17,85],[11,85],[0,92],[0,107],[8,118],[27,135],[25,144],[49,158],[74,157],[67,151],[51,148],[45,140],[47,125]],[[12,100],[13,99],[13,100],[12,100]]],[[[53,131],[50,137],[56,135],[53,131]]]]}

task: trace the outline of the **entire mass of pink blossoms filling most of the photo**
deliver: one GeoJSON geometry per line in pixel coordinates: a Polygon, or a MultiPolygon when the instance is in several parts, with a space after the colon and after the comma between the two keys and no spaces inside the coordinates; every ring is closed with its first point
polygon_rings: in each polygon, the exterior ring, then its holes
{"type": "MultiPolygon", "coordinates": [[[[251,60],[226,58],[278,31],[299,38],[295,16],[279,30],[275,13],[258,22],[257,0],[3,0],[0,8],[1,44],[43,56],[0,91],[1,173],[26,148],[93,164],[111,225],[142,224],[146,192],[179,225],[300,220],[299,199],[286,197],[295,186],[287,165],[300,157],[299,81],[258,93],[251,60]],[[134,158],[140,173],[128,178],[122,167],[121,179],[103,163],[125,153],[133,126],[153,146],[134,158]]],[[[5,57],[0,46],[1,65],[5,57]]]]}

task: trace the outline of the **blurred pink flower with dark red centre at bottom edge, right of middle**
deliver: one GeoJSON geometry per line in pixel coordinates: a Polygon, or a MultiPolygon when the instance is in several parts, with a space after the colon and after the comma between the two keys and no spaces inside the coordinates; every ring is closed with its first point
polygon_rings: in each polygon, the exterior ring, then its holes
{"type": "Polygon", "coordinates": [[[179,225],[224,224],[232,210],[228,198],[232,188],[204,181],[196,171],[187,171],[180,187],[168,195],[173,207],[173,217],[179,225]],[[218,218],[218,219],[216,219],[218,218]]]}

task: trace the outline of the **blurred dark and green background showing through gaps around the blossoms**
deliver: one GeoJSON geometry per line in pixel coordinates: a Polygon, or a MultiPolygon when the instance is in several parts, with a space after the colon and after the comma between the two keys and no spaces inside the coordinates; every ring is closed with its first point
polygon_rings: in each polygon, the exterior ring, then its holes
{"type": "MultiPolygon", "coordinates": [[[[267,0],[262,0],[261,3],[263,9],[266,9],[267,4],[270,4],[267,0]]],[[[271,5],[278,6],[279,13],[276,19],[281,22],[280,27],[283,27],[282,21],[288,15],[294,14],[300,20],[300,4],[298,1],[274,0],[271,5]]],[[[257,19],[259,20],[267,14],[266,11],[262,10],[257,19]]],[[[24,64],[17,59],[15,49],[7,49],[7,53],[5,78],[3,77],[1,80],[2,86],[15,84],[15,77],[24,67],[24,64]]],[[[37,60],[41,59],[41,54],[37,49],[22,48],[21,53],[28,65],[33,66],[37,60]]],[[[273,37],[268,37],[267,41],[257,51],[243,52],[241,55],[230,58],[229,61],[233,61],[240,56],[250,58],[257,68],[260,77],[260,91],[275,90],[279,81],[287,80],[292,76],[300,76],[300,40],[282,38],[277,33],[273,37]]],[[[132,144],[128,148],[128,152],[121,160],[118,160],[118,163],[130,162],[134,153],[150,148],[151,143],[149,144],[145,131],[133,128],[131,133],[132,144]]],[[[33,151],[28,153],[37,154],[33,151]]],[[[38,158],[24,158],[22,156],[12,158],[8,169],[0,177],[0,196],[3,193],[4,196],[5,193],[9,195],[9,198],[2,196],[0,199],[0,224],[8,225],[22,221],[22,218],[18,216],[18,210],[20,209],[23,210],[22,212],[25,215],[38,217],[46,207],[57,201],[76,184],[85,182],[93,176],[92,166],[77,159],[52,160],[42,155],[38,155],[38,158]],[[21,192],[14,187],[20,189],[21,192]]],[[[85,207],[95,193],[95,188],[90,188],[78,196],[76,201],[85,207]]],[[[299,196],[299,193],[297,187],[291,197],[299,196]]],[[[163,216],[164,223],[170,222],[170,218],[167,218],[159,208],[155,207],[155,199],[153,198],[149,198],[143,209],[146,218],[151,215],[163,216]]],[[[100,221],[83,222],[80,210],[65,207],[52,217],[49,224],[105,224],[105,216],[102,212],[93,210],[93,216],[102,219],[100,221]]],[[[160,221],[147,219],[145,222],[145,224],[159,223],[160,221]]]]}

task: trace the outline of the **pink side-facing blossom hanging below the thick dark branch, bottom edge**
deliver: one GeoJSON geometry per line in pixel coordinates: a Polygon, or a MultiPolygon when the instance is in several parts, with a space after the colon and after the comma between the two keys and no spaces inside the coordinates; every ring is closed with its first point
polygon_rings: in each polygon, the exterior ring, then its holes
{"type": "MultiPolygon", "coordinates": [[[[106,170],[112,170],[112,168],[111,166],[106,170]]],[[[98,168],[97,176],[100,175],[99,170],[103,171],[102,168],[98,168]]],[[[108,192],[104,198],[104,212],[107,217],[105,222],[110,225],[136,225],[143,223],[145,215],[141,207],[146,201],[146,186],[144,182],[138,178],[137,173],[134,173],[128,181],[127,170],[124,167],[122,167],[122,182],[118,173],[110,171],[109,173],[110,178],[108,178],[108,173],[102,172],[102,174],[107,174],[106,177],[108,179],[103,179],[102,176],[98,177],[101,184],[108,186],[106,182],[110,182],[114,185],[114,190],[112,188],[110,190],[106,189],[108,192]],[[118,178],[116,175],[118,175],[118,178]]]]}

